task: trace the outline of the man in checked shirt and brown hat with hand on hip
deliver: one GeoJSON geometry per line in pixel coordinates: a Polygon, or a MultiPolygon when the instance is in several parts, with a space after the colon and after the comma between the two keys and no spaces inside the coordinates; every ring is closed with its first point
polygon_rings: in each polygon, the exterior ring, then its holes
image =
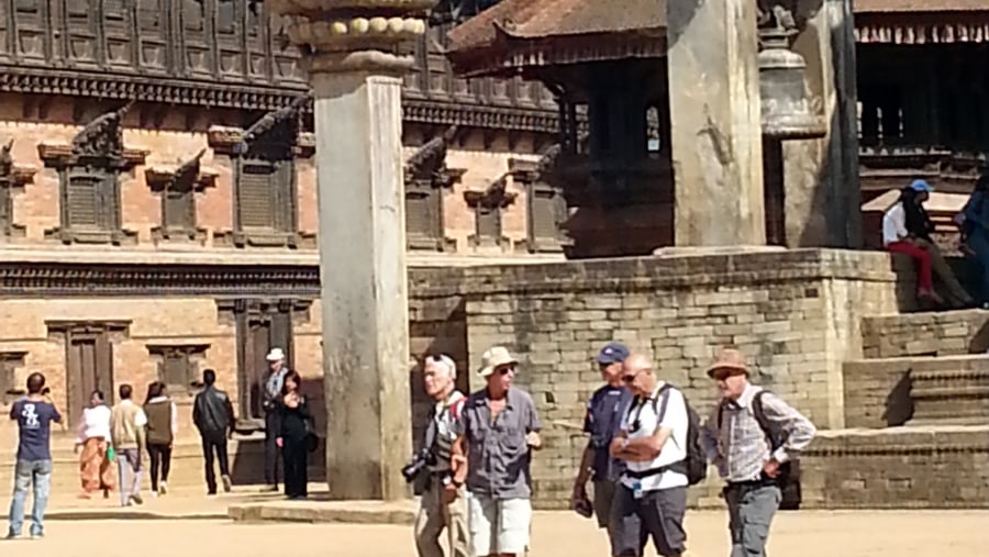
{"type": "Polygon", "coordinates": [[[701,443],[727,482],[731,557],[765,557],[790,463],[816,430],[779,397],[749,383],[745,356],[736,349],[723,349],[708,376],[718,381],[722,400],[704,424],[701,443]]]}

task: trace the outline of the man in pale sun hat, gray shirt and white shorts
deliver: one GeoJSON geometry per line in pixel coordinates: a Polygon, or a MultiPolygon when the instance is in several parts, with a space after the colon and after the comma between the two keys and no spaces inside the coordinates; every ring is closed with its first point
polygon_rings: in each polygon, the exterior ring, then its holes
{"type": "Polygon", "coordinates": [[[543,446],[535,404],[512,386],[519,366],[503,346],[482,356],[487,387],[464,404],[454,458],[454,482],[466,482],[470,542],[476,557],[515,556],[529,547],[532,525],[532,450],[543,446]]]}

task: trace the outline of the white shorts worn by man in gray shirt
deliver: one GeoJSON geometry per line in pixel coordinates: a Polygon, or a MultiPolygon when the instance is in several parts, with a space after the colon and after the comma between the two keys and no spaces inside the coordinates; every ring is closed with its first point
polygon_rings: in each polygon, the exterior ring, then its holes
{"type": "Polygon", "coordinates": [[[532,501],[471,493],[467,504],[470,548],[475,556],[525,553],[532,526],[532,501]]]}

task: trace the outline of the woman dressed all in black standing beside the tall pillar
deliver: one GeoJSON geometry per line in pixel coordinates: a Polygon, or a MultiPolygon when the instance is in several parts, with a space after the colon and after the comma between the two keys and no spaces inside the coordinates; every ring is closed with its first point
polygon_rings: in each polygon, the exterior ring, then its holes
{"type": "Polygon", "coordinates": [[[309,443],[312,435],[312,414],[305,397],[299,392],[302,380],[296,371],[285,376],[281,399],[276,401],[278,438],[285,474],[285,494],[289,499],[305,499],[309,475],[309,443]]]}

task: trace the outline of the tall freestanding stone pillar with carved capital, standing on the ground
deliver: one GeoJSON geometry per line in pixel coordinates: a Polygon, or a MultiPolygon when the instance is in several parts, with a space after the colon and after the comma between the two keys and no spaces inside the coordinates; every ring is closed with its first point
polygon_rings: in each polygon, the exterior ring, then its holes
{"type": "Polygon", "coordinates": [[[275,0],[313,86],[326,475],[337,500],[409,495],[409,316],[398,47],[433,0],[275,0]],[[411,15],[400,15],[411,14],[411,15]],[[384,15],[384,16],[381,16],[384,15]]]}

